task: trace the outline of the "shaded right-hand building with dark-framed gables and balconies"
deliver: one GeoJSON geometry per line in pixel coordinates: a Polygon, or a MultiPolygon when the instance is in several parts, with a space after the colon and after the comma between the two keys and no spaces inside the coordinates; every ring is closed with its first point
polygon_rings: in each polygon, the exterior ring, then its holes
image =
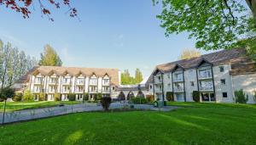
{"type": "Polygon", "coordinates": [[[160,64],[148,84],[160,100],[172,92],[174,101],[193,102],[193,92],[199,92],[201,102],[234,103],[234,92],[243,89],[247,103],[255,103],[255,63],[245,54],[244,49],[236,48],[160,64]]]}

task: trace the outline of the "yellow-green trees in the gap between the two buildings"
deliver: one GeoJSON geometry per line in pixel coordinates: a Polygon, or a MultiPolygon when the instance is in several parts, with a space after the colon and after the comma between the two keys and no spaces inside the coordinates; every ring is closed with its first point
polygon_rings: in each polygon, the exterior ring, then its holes
{"type": "Polygon", "coordinates": [[[135,72],[135,77],[131,76],[129,70],[121,73],[121,84],[122,85],[134,85],[143,81],[143,74],[141,70],[137,69],[135,72]]]}

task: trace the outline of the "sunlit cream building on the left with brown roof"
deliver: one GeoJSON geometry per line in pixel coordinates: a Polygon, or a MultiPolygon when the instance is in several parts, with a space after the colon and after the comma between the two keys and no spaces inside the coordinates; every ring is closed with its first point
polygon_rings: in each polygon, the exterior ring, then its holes
{"type": "Polygon", "coordinates": [[[82,100],[83,94],[88,93],[89,99],[94,100],[97,93],[102,93],[102,97],[113,97],[119,83],[117,69],[39,66],[20,78],[15,88],[20,92],[30,90],[35,100],[43,95],[44,100],[53,101],[58,94],[65,101],[69,93],[74,93],[76,100],[82,100]]]}

